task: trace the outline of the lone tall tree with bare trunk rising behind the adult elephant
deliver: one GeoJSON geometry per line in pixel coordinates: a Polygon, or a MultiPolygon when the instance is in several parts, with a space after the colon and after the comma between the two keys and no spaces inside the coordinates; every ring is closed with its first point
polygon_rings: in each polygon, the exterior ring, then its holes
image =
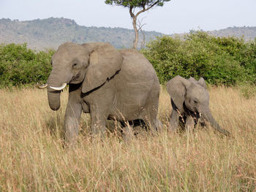
{"type": "Polygon", "coordinates": [[[133,41],[133,48],[137,49],[138,47],[138,37],[139,37],[139,30],[137,25],[137,18],[138,15],[142,12],[146,12],[152,7],[155,6],[163,6],[165,1],[170,0],[105,0],[105,4],[116,4],[117,6],[123,6],[129,8],[129,15],[132,18],[132,26],[135,30],[135,39],[133,41]],[[138,12],[135,13],[135,9],[138,8],[138,12]]]}

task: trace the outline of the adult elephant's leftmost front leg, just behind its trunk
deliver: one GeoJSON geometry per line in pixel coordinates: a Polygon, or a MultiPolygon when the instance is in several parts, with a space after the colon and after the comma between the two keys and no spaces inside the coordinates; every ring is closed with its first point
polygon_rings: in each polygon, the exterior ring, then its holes
{"type": "Polygon", "coordinates": [[[73,103],[69,99],[64,120],[65,141],[70,145],[74,145],[78,137],[80,116],[82,112],[82,104],[73,103]]]}

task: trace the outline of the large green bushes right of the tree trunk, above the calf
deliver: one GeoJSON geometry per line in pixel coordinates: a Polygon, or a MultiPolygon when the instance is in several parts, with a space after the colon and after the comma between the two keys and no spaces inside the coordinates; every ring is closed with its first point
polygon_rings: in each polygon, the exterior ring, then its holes
{"type": "Polygon", "coordinates": [[[245,42],[191,31],[185,37],[157,37],[142,53],[153,64],[161,83],[178,74],[204,77],[214,85],[256,82],[256,39],[245,42]]]}

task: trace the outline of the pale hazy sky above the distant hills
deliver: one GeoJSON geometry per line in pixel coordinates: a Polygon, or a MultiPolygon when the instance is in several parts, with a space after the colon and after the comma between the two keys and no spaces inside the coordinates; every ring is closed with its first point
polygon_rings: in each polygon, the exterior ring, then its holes
{"type": "MultiPolygon", "coordinates": [[[[129,10],[104,0],[0,0],[0,18],[69,18],[80,26],[132,28],[129,10]]],[[[141,14],[146,31],[164,34],[256,26],[256,0],[171,0],[141,14]]]]}

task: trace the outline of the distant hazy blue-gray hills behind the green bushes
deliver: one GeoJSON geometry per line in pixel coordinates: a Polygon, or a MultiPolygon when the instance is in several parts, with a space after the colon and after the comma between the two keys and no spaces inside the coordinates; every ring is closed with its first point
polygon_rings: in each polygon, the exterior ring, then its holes
{"type": "MultiPolygon", "coordinates": [[[[256,27],[230,27],[219,31],[208,31],[218,37],[235,36],[250,40],[256,38],[256,27]]],[[[163,34],[145,31],[145,40],[155,39],[163,34]]],[[[126,28],[79,26],[75,20],[48,18],[37,20],[0,19],[0,43],[23,43],[33,49],[56,49],[63,42],[110,42],[117,48],[132,47],[134,31],[126,28]]],[[[140,34],[140,42],[143,39],[140,34]]]]}

